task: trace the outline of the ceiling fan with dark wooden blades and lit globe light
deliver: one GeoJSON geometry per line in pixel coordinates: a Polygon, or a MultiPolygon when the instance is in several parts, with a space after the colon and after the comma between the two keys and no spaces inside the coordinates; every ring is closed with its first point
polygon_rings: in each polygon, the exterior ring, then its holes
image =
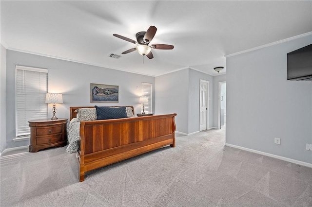
{"type": "Polygon", "coordinates": [[[154,57],[152,53],[152,48],[157,49],[157,50],[174,49],[173,45],[166,45],[166,44],[152,44],[151,46],[149,46],[148,44],[152,41],[153,37],[156,34],[156,31],[157,31],[157,28],[155,26],[150,26],[150,28],[148,28],[146,32],[138,32],[136,35],[137,41],[121,36],[121,35],[117,35],[117,34],[113,34],[113,35],[120,39],[126,40],[128,42],[131,42],[137,45],[137,47],[131,48],[130,50],[122,52],[122,54],[127,54],[129,52],[137,51],[141,55],[143,56],[146,55],[149,59],[152,59],[154,57]]]}

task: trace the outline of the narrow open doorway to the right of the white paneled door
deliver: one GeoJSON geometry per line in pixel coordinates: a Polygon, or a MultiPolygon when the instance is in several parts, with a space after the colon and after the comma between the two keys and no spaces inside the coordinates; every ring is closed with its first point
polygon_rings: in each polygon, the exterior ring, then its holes
{"type": "Polygon", "coordinates": [[[226,123],[226,81],[219,82],[218,89],[218,128],[221,129],[226,123]]]}

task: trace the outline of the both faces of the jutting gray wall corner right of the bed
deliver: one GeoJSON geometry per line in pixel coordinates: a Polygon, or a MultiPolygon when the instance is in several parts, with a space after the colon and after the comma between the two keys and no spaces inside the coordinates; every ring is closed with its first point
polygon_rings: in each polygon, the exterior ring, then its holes
{"type": "MultiPolygon", "coordinates": [[[[213,76],[194,69],[183,69],[155,77],[155,112],[176,113],[176,131],[191,134],[199,131],[200,79],[209,81],[213,96],[213,76]]],[[[213,104],[209,107],[209,127],[213,126],[213,104]]]]}

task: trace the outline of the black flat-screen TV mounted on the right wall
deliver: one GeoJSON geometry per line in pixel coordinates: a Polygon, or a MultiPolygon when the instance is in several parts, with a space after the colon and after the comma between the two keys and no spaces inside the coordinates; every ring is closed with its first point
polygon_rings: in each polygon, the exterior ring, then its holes
{"type": "Polygon", "coordinates": [[[312,80],[312,44],[287,53],[287,80],[312,80]]]}

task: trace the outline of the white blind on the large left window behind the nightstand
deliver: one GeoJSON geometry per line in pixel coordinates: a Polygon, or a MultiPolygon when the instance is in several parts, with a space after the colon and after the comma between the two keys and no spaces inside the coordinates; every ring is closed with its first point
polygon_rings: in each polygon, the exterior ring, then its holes
{"type": "Polygon", "coordinates": [[[46,119],[48,69],[16,66],[16,139],[30,137],[28,121],[46,119]]]}

